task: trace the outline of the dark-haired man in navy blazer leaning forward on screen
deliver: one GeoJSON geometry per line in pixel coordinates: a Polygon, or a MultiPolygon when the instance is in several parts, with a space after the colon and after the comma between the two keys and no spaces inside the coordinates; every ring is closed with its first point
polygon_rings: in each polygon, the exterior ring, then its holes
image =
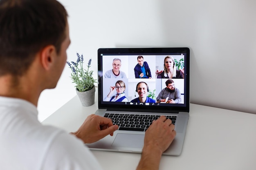
{"type": "Polygon", "coordinates": [[[151,72],[147,62],[144,62],[143,56],[137,57],[138,64],[134,68],[135,78],[149,78],[151,79],[151,72]]]}

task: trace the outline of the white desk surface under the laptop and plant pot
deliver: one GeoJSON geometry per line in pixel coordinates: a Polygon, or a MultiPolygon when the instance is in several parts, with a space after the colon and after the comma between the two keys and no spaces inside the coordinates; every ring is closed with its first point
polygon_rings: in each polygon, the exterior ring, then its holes
{"type": "MultiPolygon", "coordinates": [[[[97,95],[97,94],[95,94],[97,95]]],[[[76,131],[98,108],[83,107],[75,96],[43,124],[76,131]]],[[[135,170],[140,154],[92,151],[105,170],[135,170]]],[[[85,158],[86,159],[86,158],[85,158]]],[[[255,170],[256,115],[190,104],[190,117],[180,156],[163,156],[160,170],[255,170]]]]}

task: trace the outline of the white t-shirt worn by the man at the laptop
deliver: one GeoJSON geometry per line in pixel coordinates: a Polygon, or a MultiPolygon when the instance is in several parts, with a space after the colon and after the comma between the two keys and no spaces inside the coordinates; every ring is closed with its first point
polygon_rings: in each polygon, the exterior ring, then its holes
{"type": "Polygon", "coordinates": [[[80,139],[42,125],[36,107],[0,97],[1,170],[101,170],[80,139]]]}

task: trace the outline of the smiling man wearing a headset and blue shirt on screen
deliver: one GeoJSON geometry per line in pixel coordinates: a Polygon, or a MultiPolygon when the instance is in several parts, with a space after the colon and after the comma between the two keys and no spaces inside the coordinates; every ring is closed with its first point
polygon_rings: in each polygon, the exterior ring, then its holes
{"type": "Polygon", "coordinates": [[[148,94],[148,84],[145,82],[139,82],[136,86],[136,92],[139,97],[132,99],[131,102],[137,103],[155,103],[154,99],[147,97],[148,94]]]}

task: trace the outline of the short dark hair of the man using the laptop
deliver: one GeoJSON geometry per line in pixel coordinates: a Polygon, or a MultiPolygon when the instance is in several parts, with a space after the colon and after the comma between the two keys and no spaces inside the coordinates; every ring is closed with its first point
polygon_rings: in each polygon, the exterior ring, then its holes
{"type": "Polygon", "coordinates": [[[0,0],[0,76],[22,75],[47,45],[59,53],[67,16],[56,0],[0,0]]]}

